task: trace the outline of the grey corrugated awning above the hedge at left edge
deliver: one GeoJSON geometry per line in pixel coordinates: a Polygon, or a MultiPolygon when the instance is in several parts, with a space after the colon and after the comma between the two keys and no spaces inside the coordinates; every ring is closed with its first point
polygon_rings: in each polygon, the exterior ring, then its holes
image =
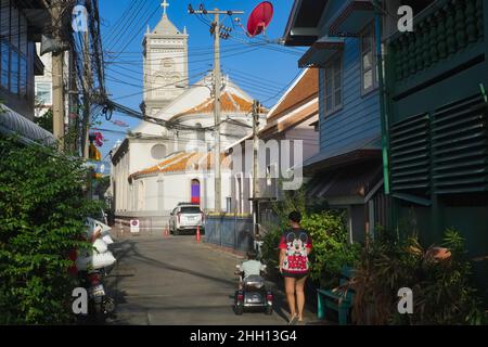
{"type": "Polygon", "coordinates": [[[56,140],[48,130],[20,115],[5,105],[0,106],[0,132],[17,134],[24,143],[37,142],[43,145],[54,145],[56,140]]]}

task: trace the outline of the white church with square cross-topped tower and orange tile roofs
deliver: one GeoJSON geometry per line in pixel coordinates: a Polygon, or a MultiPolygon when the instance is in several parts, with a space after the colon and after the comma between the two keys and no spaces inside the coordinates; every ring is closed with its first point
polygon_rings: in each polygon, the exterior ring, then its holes
{"type": "MultiPolygon", "coordinates": [[[[189,83],[187,29],[166,14],[143,40],[144,120],[112,152],[112,195],[118,220],[159,229],[180,202],[215,209],[213,74],[189,83]]],[[[223,152],[252,133],[253,99],[228,76],[220,97],[221,207],[230,211],[231,160],[223,152]]],[[[260,115],[266,123],[265,110],[260,115]]],[[[235,196],[234,196],[235,198],[235,196]]]]}

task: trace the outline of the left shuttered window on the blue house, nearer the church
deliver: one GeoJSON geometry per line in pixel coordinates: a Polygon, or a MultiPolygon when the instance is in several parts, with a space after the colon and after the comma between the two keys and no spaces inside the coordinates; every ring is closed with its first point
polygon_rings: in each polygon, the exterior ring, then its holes
{"type": "Polygon", "coordinates": [[[331,114],[343,106],[343,64],[337,56],[324,69],[325,114],[331,114]]]}

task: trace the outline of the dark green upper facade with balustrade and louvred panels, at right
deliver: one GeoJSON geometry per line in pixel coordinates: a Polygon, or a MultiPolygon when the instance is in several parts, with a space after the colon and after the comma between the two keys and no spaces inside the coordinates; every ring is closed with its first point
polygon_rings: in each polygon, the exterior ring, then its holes
{"type": "Polygon", "coordinates": [[[387,55],[391,189],[431,200],[488,191],[488,7],[436,3],[387,55]]]}

